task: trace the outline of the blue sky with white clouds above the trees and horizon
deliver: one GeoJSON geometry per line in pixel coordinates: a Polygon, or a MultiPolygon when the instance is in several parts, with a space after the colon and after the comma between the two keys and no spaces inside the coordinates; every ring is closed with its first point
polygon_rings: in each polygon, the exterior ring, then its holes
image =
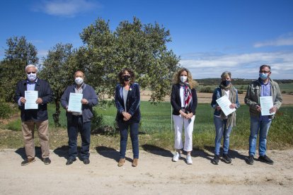
{"type": "MultiPolygon", "coordinates": [[[[82,45],[79,33],[97,18],[115,30],[136,16],[170,30],[168,49],[193,78],[258,78],[272,66],[272,78],[293,79],[292,0],[4,0],[0,3],[0,59],[6,40],[25,36],[38,57],[59,42],[82,45]]],[[[42,62],[42,61],[40,61],[42,62]]]]}

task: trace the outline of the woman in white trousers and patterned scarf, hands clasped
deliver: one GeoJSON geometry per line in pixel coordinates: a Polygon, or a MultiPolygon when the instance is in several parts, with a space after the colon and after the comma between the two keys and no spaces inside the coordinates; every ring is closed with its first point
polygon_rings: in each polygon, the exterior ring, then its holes
{"type": "Polygon", "coordinates": [[[193,124],[195,122],[195,109],[197,107],[196,82],[188,69],[180,69],[174,74],[171,93],[171,105],[173,107],[173,121],[175,132],[174,148],[176,153],[172,160],[177,162],[180,158],[180,150],[185,150],[186,163],[193,164],[191,151],[193,150],[193,124]],[[185,141],[183,144],[182,131],[184,126],[185,141]]]}

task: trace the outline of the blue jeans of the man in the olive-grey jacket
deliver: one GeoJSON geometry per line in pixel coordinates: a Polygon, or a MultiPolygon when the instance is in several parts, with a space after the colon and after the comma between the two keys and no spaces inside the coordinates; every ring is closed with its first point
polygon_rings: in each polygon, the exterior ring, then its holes
{"type": "Polygon", "coordinates": [[[249,155],[255,155],[256,139],[259,135],[258,155],[265,155],[267,150],[267,136],[268,130],[272,120],[264,119],[260,121],[259,118],[251,117],[251,136],[249,136],[249,155]]]}

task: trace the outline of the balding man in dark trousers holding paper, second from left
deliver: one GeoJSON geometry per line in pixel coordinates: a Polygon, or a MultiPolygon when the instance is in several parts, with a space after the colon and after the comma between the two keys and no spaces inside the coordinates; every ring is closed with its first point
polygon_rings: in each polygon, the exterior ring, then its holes
{"type": "Polygon", "coordinates": [[[84,73],[82,71],[74,73],[74,81],[76,84],[68,86],[61,98],[61,105],[67,110],[69,158],[66,165],[71,165],[76,160],[79,132],[81,134],[81,158],[84,164],[87,165],[90,163],[91,118],[93,117],[93,106],[98,104],[98,96],[91,85],[84,83],[84,73]],[[69,110],[69,99],[76,94],[82,94],[80,112],[69,110]]]}

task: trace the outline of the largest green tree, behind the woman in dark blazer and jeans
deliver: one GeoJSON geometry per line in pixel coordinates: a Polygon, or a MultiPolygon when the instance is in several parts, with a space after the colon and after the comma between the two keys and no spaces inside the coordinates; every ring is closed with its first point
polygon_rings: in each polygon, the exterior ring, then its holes
{"type": "Polygon", "coordinates": [[[112,32],[109,21],[98,18],[80,36],[88,82],[96,87],[100,99],[113,98],[117,73],[125,67],[134,70],[142,89],[151,90],[152,102],[163,101],[170,93],[179,58],[166,47],[171,42],[169,30],[158,23],[144,25],[134,17],[112,32]]]}

